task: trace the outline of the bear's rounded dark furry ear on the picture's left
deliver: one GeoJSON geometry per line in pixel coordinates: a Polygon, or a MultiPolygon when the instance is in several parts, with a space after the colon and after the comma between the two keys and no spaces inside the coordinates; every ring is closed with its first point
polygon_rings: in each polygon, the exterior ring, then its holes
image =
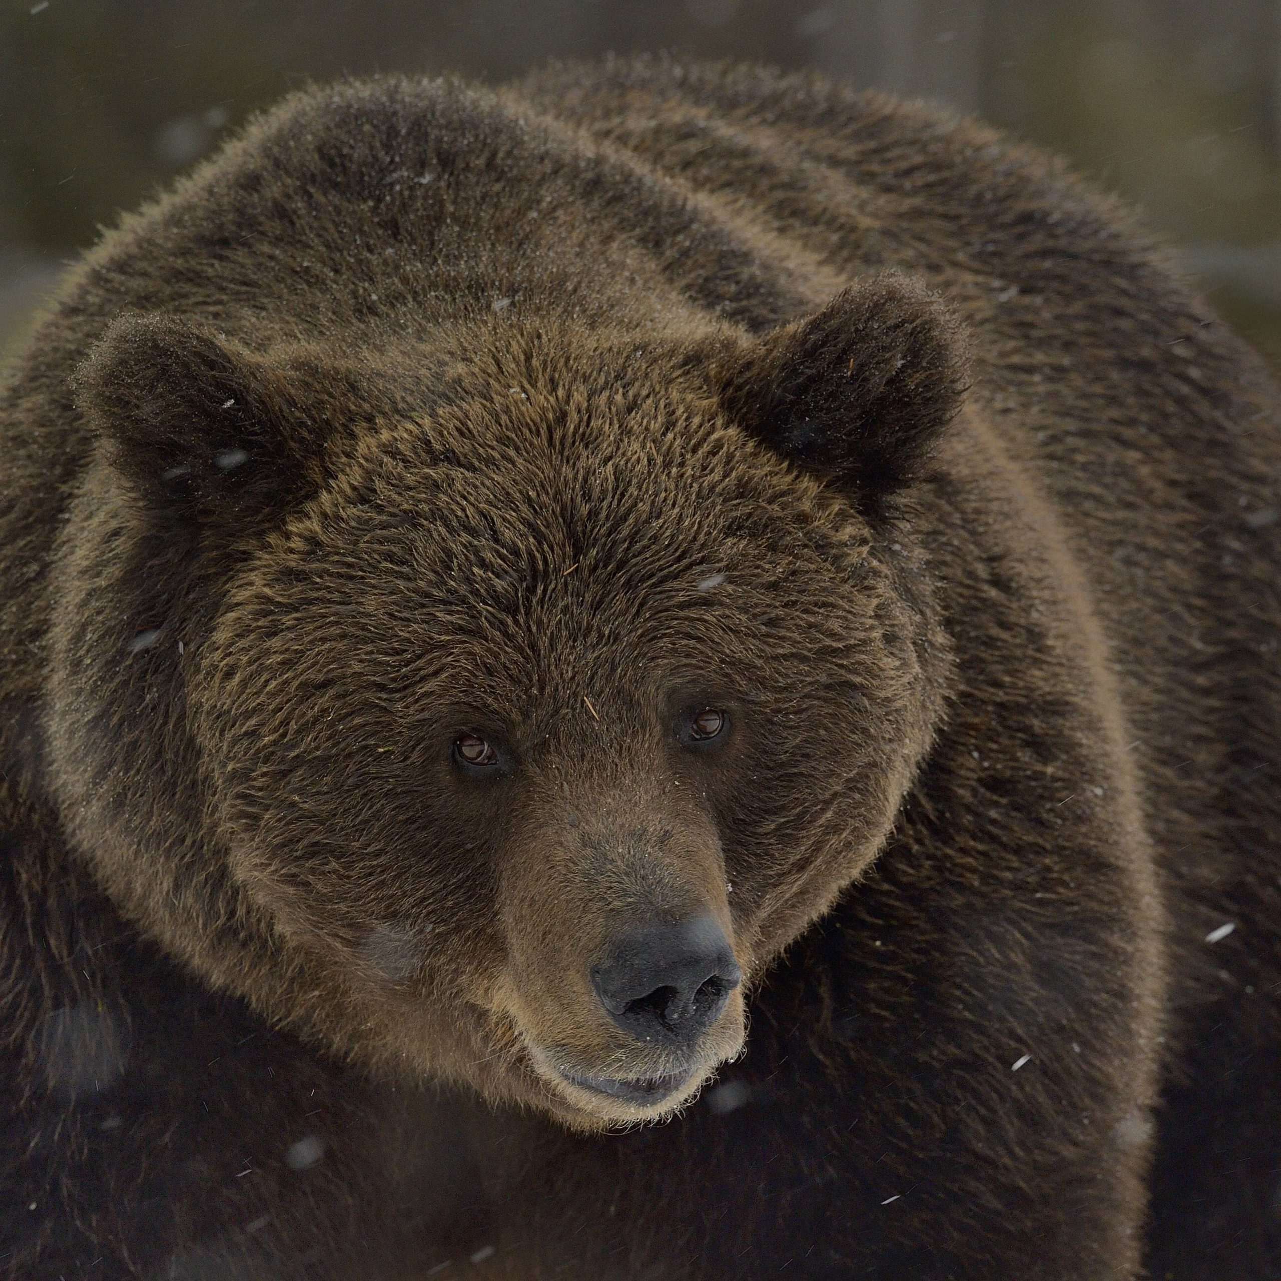
{"type": "Polygon", "coordinates": [[[149,506],[250,525],[315,487],[305,384],[297,369],[164,315],[113,322],[74,379],[111,465],[149,506]]]}

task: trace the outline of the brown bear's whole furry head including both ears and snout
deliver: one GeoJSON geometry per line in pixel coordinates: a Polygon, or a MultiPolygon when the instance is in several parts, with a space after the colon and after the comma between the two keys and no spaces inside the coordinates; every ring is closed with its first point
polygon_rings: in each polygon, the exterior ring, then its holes
{"type": "Polygon", "coordinates": [[[938,719],[884,505],[954,409],[949,341],[904,282],[760,341],[491,323],[359,374],[118,323],[81,397],[132,506],[77,573],[133,574],[146,637],[183,634],[192,575],[220,592],[190,649],[110,670],[68,594],[65,688],[181,671],[183,749],[110,751],[186,771],[200,813],[126,830],[94,708],[63,716],[86,852],[206,980],[357,1062],[579,1127],[667,1114],[875,856],[938,719]],[[124,547],[158,537],[161,605],[124,547]]]}

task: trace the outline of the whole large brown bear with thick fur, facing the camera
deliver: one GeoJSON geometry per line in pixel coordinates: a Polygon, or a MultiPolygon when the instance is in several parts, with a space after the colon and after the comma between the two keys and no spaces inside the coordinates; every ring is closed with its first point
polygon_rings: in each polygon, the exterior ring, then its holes
{"type": "Polygon", "coordinates": [[[309,90],[3,400],[0,1273],[1281,1273],[1278,393],[988,129],[309,90]]]}

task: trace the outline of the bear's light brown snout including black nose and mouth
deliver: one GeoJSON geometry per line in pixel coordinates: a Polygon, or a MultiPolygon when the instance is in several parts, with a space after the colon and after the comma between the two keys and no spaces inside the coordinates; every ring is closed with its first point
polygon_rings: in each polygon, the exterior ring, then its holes
{"type": "Polygon", "coordinates": [[[557,1114],[655,1117],[743,1048],[751,958],[735,953],[720,840],[643,776],[553,797],[509,838],[491,999],[557,1114]]]}

